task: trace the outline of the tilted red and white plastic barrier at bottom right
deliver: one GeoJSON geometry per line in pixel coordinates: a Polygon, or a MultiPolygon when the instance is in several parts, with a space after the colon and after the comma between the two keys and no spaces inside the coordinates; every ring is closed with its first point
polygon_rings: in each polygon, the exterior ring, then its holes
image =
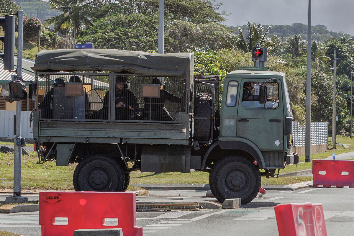
{"type": "Polygon", "coordinates": [[[321,203],[290,203],[274,207],[279,236],[327,236],[321,203]]]}

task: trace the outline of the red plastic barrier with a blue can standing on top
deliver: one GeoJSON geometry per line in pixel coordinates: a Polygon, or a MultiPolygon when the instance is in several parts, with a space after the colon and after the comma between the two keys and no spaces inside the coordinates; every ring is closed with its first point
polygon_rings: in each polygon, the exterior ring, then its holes
{"type": "Polygon", "coordinates": [[[354,188],[354,161],[312,160],[313,186],[354,188]]]}

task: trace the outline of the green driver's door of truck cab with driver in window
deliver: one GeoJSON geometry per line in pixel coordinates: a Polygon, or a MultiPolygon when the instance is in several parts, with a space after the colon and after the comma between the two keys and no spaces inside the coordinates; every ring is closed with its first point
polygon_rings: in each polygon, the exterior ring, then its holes
{"type": "MultiPolygon", "coordinates": [[[[237,114],[237,136],[251,140],[261,151],[282,151],[284,111],[282,99],[281,80],[264,82],[267,79],[242,79],[241,87],[244,90],[245,82],[255,82],[252,92],[254,101],[243,101],[240,91],[237,114]],[[257,95],[261,86],[267,86],[267,102],[259,103],[257,95]],[[276,100],[276,101],[275,101],[276,100]],[[265,108],[264,107],[267,107],[265,108]]],[[[251,99],[250,99],[251,100],[251,99]]]]}

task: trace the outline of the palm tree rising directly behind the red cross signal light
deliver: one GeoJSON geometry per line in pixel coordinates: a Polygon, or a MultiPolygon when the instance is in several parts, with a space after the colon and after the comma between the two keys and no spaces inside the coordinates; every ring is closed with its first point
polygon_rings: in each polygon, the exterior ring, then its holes
{"type": "Polygon", "coordinates": [[[247,27],[248,32],[246,38],[242,32],[242,29],[239,27],[240,34],[236,46],[241,51],[250,52],[252,47],[256,46],[257,43],[260,45],[265,45],[270,26],[264,30],[261,23],[247,21],[247,27]]]}

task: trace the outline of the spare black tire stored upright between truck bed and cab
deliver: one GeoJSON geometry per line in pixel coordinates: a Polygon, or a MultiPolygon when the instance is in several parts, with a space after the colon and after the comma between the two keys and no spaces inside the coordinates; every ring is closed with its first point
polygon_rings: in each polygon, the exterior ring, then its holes
{"type": "MultiPolygon", "coordinates": [[[[211,94],[198,93],[194,104],[194,116],[211,117],[211,94]]],[[[194,120],[194,140],[209,140],[211,119],[194,120]]]]}

